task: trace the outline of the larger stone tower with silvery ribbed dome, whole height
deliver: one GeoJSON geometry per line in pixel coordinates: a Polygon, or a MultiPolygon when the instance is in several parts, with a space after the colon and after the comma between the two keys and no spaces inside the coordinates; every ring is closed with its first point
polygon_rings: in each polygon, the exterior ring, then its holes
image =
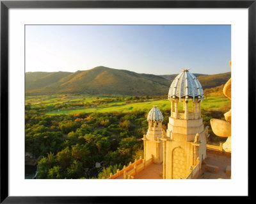
{"type": "Polygon", "coordinates": [[[202,86],[189,69],[172,82],[168,93],[172,103],[168,129],[163,141],[163,178],[186,178],[206,157],[206,139],[200,103],[202,86]],[[181,105],[179,109],[179,105],[181,105]]]}

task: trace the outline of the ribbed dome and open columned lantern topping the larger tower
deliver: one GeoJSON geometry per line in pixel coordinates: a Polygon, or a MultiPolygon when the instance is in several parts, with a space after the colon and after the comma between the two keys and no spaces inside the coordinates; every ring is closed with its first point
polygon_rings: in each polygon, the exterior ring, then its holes
{"type": "Polygon", "coordinates": [[[200,102],[204,99],[204,91],[195,75],[184,69],[173,80],[168,93],[168,99],[172,102],[173,118],[196,119],[200,118],[200,102]],[[178,110],[178,103],[183,99],[183,111],[178,110]],[[193,99],[193,110],[188,110],[189,99],[193,99]]]}

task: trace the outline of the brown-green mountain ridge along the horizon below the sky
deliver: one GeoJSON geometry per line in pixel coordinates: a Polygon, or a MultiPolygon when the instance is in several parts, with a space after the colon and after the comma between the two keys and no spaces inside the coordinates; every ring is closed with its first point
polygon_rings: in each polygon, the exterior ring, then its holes
{"type": "MultiPolygon", "coordinates": [[[[228,73],[195,75],[203,88],[211,88],[225,84],[228,73]]],[[[138,74],[102,66],[77,72],[26,72],[26,94],[166,95],[176,75],[138,74]]]]}

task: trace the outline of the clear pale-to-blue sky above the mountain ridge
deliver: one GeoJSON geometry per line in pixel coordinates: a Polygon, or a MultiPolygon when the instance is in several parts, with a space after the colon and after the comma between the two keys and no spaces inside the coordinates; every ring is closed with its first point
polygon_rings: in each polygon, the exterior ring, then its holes
{"type": "Polygon", "coordinates": [[[230,25],[26,25],[26,72],[230,72],[230,25]]]}

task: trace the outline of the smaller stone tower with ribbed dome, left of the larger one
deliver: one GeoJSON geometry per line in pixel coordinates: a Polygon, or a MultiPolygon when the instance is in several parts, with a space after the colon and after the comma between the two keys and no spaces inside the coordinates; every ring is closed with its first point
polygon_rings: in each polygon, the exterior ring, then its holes
{"type": "Polygon", "coordinates": [[[148,131],[147,135],[144,135],[143,145],[144,145],[144,159],[147,161],[153,155],[153,162],[155,164],[160,164],[163,162],[163,145],[160,140],[162,137],[162,122],[163,114],[154,106],[148,113],[148,131]]]}

